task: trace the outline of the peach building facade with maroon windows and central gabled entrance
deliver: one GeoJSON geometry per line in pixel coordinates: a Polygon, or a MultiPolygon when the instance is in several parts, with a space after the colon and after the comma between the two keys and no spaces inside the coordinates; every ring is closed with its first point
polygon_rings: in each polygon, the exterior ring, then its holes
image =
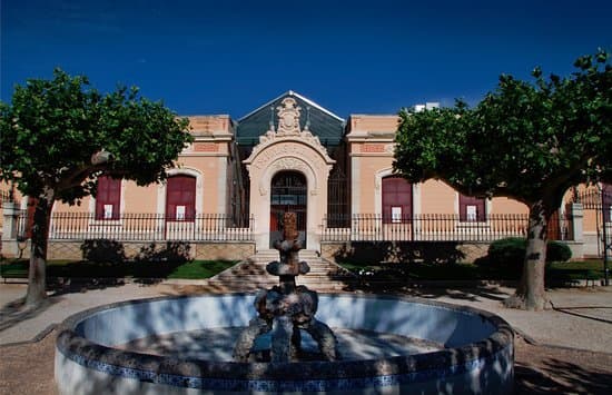
{"type": "MultiPolygon", "coordinates": [[[[395,115],[343,119],[293,91],[238,120],[189,117],[195,140],[167,181],[139,187],[102,176],[96,198],[80,206],[56,204],[50,239],[182,240],[221,244],[219,250],[223,243],[248,244],[240,253],[248,255],[280,237],[285,211],[297,214],[303,245],[319,254],[326,244],[337,249],[358,241],[487,243],[525,236],[527,207],[519,201],[463,196],[440,180],[409,184],[395,175],[397,122],[395,115]]],[[[7,195],[9,186],[2,188],[7,195]]],[[[573,243],[575,257],[598,255],[610,213],[598,219],[572,194],[550,235],[573,243]]],[[[7,240],[27,236],[28,199],[18,200],[14,211],[6,206],[3,214],[4,255],[14,253],[7,240]],[[26,219],[11,219],[18,211],[26,219]]]]}

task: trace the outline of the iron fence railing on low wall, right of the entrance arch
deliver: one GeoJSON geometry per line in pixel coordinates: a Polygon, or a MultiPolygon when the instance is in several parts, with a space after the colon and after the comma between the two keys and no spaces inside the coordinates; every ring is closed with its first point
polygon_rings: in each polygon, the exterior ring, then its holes
{"type": "Polygon", "coordinates": [[[529,216],[488,215],[484,221],[462,221],[453,214],[422,214],[383,217],[355,214],[348,218],[326,217],[323,241],[492,241],[505,237],[526,237],[529,216]],[[330,227],[330,224],[346,224],[330,227]]]}

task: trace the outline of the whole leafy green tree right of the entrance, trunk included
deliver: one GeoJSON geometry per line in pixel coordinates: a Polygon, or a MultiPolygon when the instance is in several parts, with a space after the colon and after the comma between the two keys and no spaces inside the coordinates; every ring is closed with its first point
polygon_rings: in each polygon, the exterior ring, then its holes
{"type": "Polygon", "coordinates": [[[501,76],[473,109],[401,110],[394,168],[416,182],[446,181],[463,194],[505,196],[529,207],[527,250],[509,307],[543,309],[546,224],[565,191],[612,172],[609,53],[579,58],[578,71],[534,83],[501,76]]]}

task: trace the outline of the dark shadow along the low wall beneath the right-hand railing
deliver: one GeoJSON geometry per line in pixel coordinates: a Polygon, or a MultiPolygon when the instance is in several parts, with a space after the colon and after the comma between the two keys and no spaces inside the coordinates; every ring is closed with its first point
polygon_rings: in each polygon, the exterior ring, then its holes
{"type": "Polygon", "coordinates": [[[456,241],[353,241],[334,254],[336,263],[453,264],[465,258],[456,241]]]}

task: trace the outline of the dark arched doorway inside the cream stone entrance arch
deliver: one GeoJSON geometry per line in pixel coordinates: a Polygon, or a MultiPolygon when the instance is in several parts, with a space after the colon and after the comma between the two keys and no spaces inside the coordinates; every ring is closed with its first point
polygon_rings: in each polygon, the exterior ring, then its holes
{"type": "Polygon", "coordinates": [[[283,215],[297,215],[299,240],[306,246],[307,181],[298,171],[279,171],[270,184],[270,248],[283,238],[283,215]]]}

